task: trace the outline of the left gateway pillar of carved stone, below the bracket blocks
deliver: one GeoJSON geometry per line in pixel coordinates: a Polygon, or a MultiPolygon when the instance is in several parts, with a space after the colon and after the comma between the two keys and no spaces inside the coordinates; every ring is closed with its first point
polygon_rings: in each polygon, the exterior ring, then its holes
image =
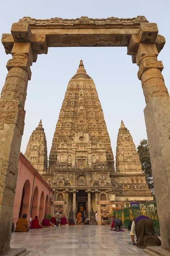
{"type": "Polygon", "coordinates": [[[0,253],[8,251],[20,144],[24,130],[24,104],[31,77],[33,52],[29,42],[15,42],[8,60],[5,85],[0,98],[0,253]]]}

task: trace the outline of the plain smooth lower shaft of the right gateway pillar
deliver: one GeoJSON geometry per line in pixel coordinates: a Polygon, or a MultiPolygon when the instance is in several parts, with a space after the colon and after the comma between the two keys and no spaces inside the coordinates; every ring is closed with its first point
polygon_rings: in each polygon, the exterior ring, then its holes
{"type": "Polygon", "coordinates": [[[170,250],[170,98],[150,98],[144,114],[162,247],[170,250]]]}

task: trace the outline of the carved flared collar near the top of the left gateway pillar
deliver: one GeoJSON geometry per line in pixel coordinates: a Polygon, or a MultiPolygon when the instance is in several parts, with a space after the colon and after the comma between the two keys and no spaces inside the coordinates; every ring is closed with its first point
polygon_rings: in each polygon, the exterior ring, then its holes
{"type": "Polygon", "coordinates": [[[24,56],[23,57],[19,56],[19,57],[20,58],[18,58],[18,55],[17,55],[12,59],[9,59],[6,64],[6,68],[8,69],[8,71],[13,67],[22,68],[28,73],[28,80],[30,80],[31,79],[30,62],[24,56]]]}

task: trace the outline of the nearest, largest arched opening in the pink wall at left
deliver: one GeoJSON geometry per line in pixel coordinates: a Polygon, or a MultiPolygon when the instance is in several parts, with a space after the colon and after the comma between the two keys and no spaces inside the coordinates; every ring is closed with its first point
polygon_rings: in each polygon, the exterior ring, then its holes
{"type": "Polygon", "coordinates": [[[29,202],[30,202],[30,182],[29,180],[26,180],[23,186],[22,191],[22,198],[21,198],[21,204],[20,204],[20,210],[19,210],[19,217],[20,218],[23,214],[28,215],[29,211],[29,202]]]}

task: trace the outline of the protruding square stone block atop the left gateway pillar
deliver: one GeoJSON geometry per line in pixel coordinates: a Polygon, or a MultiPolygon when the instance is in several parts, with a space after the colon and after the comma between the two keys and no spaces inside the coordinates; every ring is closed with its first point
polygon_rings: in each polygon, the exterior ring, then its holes
{"type": "Polygon", "coordinates": [[[28,42],[31,38],[31,30],[28,22],[13,23],[11,34],[15,42],[28,42]]]}

